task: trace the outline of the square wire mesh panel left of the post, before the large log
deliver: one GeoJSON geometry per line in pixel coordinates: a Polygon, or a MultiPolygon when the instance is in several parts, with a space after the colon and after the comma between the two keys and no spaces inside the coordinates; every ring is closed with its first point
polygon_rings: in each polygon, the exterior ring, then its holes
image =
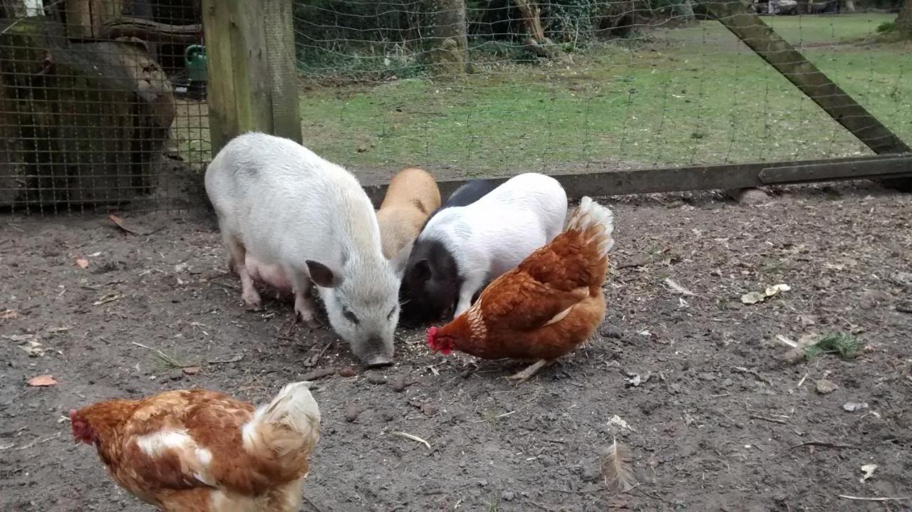
{"type": "Polygon", "coordinates": [[[200,18],[182,0],[0,0],[0,208],[199,202],[200,18]]]}

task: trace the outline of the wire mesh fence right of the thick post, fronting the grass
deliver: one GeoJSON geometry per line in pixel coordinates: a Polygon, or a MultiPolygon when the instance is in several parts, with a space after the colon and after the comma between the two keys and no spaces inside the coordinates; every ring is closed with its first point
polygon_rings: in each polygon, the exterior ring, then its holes
{"type": "MultiPolygon", "coordinates": [[[[893,42],[898,6],[751,4],[909,140],[912,62],[893,42]]],[[[295,0],[295,42],[306,146],[365,172],[871,154],[690,0],[295,0]]]]}

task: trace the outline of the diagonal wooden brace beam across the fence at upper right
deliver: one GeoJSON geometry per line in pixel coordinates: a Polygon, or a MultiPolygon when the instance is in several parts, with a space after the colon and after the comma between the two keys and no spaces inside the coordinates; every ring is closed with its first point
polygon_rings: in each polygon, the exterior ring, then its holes
{"type": "Polygon", "coordinates": [[[836,86],[739,0],[701,0],[732,34],[876,154],[910,153],[906,143],[836,86]]]}

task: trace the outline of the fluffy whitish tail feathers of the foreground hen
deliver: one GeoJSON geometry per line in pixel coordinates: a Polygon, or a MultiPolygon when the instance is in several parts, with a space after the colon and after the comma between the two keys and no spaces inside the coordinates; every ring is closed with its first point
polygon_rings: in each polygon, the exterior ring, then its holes
{"type": "Polygon", "coordinates": [[[270,445],[280,456],[291,449],[312,450],[319,440],[320,409],[310,394],[310,384],[306,381],[286,384],[272,402],[257,408],[254,417],[244,425],[244,445],[270,445]],[[270,435],[276,430],[295,435],[270,435]],[[304,441],[303,446],[300,441],[304,441]]]}

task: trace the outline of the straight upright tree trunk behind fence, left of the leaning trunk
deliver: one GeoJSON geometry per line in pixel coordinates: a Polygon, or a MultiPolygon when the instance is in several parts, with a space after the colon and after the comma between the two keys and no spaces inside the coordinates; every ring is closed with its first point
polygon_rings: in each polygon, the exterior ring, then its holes
{"type": "Polygon", "coordinates": [[[425,0],[430,41],[427,61],[435,75],[461,76],[469,63],[465,0],[425,0]]]}

